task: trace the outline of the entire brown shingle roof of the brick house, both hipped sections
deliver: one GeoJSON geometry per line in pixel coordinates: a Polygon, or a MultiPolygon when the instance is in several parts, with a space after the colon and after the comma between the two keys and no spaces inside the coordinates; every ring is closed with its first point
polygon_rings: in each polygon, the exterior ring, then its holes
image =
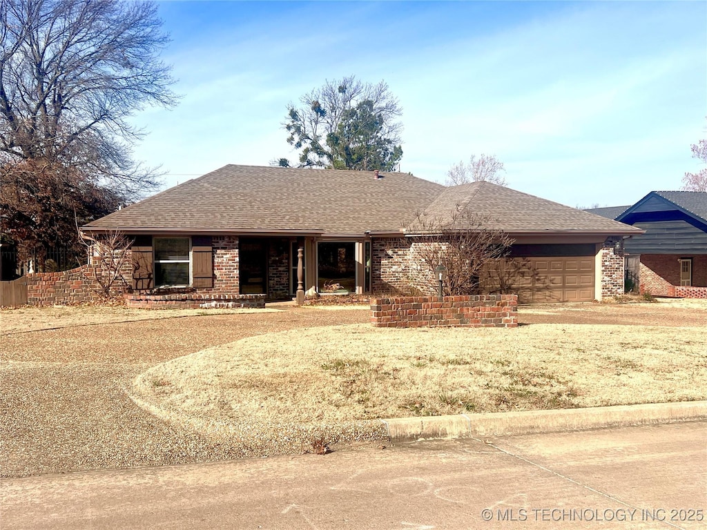
{"type": "MultiPolygon", "coordinates": [[[[641,232],[513,189],[455,187],[407,173],[226,165],[89,223],[84,229],[194,232],[399,232],[416,213],[449,218],[457,206],[517,232],[641,232]]],[[[408,232],[414,232],[414,226],[408,232]]]]}

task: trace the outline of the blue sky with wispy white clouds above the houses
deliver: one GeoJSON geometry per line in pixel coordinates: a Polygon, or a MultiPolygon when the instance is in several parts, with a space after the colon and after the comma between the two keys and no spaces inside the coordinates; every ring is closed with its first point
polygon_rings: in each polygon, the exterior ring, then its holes
{"type": "Polygon", "coordinates": [[[495,154],[508,185],[569,206],[679,189],[705,137],[707,3],[163,1],[183,95],[134,123],[165,187],[228,163],[296,160],[289,102],[325,80],[384,80],[401,169],[443,182],[495,154]]]}

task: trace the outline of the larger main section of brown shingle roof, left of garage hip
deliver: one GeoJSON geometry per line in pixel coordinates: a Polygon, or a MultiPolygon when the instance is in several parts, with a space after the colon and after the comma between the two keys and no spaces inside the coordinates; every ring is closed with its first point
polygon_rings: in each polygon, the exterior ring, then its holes
{"type": "Polygon", "coordinates": [[[396,232],[443,191],[407,173],[226,165],[95,220],[121,230],[396,232]]]}

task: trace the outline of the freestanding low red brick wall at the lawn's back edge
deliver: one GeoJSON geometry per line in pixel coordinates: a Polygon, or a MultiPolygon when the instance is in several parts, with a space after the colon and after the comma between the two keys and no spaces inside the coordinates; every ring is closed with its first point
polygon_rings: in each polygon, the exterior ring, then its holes
{"type": "Polygon", "coordinates": [[[518,295],[374,298],[370,323],[375,327],[516,327],[518,295]]]}

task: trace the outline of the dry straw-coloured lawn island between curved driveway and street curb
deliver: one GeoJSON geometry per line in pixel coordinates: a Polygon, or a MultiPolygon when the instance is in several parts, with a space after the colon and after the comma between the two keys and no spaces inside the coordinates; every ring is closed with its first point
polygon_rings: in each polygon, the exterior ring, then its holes
{"type": "MultiPolygon", "coordinates": [[[[705,307],[704,302],[700,306],[705,307]]],[[[248,425],[575,408],[707,398],[703,327],[534,324],[244,338],[157,365],[134,399],[209,434],[248,425]]]]}

